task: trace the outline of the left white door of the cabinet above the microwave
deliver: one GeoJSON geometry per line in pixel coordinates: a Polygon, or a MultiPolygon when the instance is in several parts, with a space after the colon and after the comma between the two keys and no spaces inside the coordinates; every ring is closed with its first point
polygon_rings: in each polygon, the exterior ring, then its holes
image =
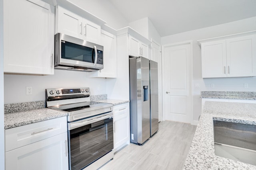
{"type": "Polygon", "coordinates": [[[56,12],[56,33],[64,33],[80,39],[84,38],[82,33],[83,18],[81,16],[62,8],[61,6],[56,6],[56,12]]]}

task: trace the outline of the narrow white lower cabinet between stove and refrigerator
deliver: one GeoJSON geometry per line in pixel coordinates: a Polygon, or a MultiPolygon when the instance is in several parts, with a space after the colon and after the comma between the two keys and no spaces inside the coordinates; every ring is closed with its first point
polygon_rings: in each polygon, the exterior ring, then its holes
{"type": "Polygon", "coordinates": [[[130,143],[130,104],[114,106],[114,152],[130,143]]]}

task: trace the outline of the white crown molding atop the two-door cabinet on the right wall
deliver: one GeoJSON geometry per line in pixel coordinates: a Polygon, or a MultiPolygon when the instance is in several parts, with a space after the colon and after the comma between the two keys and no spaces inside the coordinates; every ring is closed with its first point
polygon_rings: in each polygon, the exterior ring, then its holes
{"type": "Polygon", "coordinates": [[[201,46],[202,43],[221,41],[224,39],[237,38],[237,37],[241,37],[241,36],[255,35],[255,34],[256,34],[256,30],[248,31],[248,32],[244,32],[244,33],[237,33],[237,34],[225,35],[225,36],[220,36],[220,37],[208,38],[208,39],[201,39],[201,40],[198,40],[197,42],[201,46]]]}

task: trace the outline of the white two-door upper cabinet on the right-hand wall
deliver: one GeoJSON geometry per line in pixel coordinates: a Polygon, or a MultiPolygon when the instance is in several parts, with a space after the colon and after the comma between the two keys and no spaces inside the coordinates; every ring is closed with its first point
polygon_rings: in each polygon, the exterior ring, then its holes
{"type": "Polygon", "coordinates": [[[243,35],[199,41],[202,78],[256,76],[256,35],[243,35]]]}

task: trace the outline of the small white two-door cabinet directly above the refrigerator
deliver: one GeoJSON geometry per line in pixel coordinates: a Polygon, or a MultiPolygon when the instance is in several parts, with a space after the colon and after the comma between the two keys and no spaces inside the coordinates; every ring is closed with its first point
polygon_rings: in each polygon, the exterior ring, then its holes
{"type": "Polygon", "coordinates": [[[129,35],[129,55],[148,59],[148,45],[129,35]]]}

